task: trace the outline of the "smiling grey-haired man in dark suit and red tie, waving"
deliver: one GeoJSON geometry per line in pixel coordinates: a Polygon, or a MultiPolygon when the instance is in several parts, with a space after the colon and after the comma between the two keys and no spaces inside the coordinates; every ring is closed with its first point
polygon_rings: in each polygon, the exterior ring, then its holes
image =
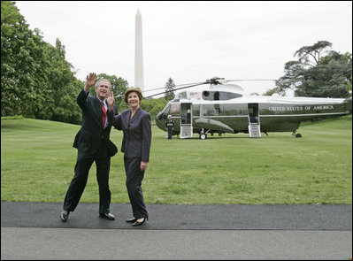
{"type": "Polygon", "coordinates": [[[96,81],[96,73],[89,73],[86,85],[77,97],[77,104],[82,110],[81,129],[73,142],[73,147],[78,149],[77,162],[73,180],[66,192],[60,219],[65,222],[69,213],[75,210],[86,187],[89,169],[93,162],[96,162],[99,217],[114,220],[115,217],[110,211],[109,171],[111,157],[117,150],[111,150],[116,148],[109,138],[111,123],[114,116],[118,114],[118,108],[114,105],[110,111],[108,110],[108,106],[114,104],[110,81],[105,79],[96,81]],[[95,85],[96,96],[88,96],[89,88],[93,85],[95,85]]]}

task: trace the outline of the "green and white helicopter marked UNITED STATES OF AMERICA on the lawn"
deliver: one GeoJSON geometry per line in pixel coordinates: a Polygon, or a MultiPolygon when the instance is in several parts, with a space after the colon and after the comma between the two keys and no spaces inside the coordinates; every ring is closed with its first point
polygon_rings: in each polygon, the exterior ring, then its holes
{"type": "Polygon", "coordinates": [[[178,92],[173,100],[157,114],[157,127],[166,131],[165,120],[171,115],[175,123],[173,135],[180,135],[180,139],[198,134],[204,140],[208,134],[225,133],[245,133],[250,138],[260,138],[261,133],[268,135],[268,132],[292,132],[299,138],[302,134],[296,131],[302,121],[352,112],[351,97],[247,96],[242,87],[229,83],[231,81],[240,80],[213,77],[174,89],[178,92]],[[199,88],[192,88],[196,86],[199,88]]]}

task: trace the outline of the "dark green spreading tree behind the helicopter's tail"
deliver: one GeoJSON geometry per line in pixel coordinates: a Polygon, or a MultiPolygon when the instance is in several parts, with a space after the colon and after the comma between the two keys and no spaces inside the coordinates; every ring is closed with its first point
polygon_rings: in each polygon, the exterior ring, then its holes
{"type": "Polygon", "coordinates": [[[286,63],[285,75],[276,81],[279,93],[284,94],[288,88],[292,88],[295,96],[348,96],[346,88],[351,82],[351,54],[325,50],[331,46],[330,42],[319,41],[295,51],[299,59],[286,63]]]}

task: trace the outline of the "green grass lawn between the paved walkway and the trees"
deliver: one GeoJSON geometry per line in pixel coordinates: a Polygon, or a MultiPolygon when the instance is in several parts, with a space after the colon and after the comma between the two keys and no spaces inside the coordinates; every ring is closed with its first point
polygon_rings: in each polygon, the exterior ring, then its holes
{"type": "MultiPolygon", "coordinates": [[[[2,201],[63,202],[73,178],[80,126],[38,119],[1,120],[2,201]]],[[[180,140],[152,126],[146,203],[352,203],[351,116],[291,133],[180,140]]],[[[118,147],[122,133],[111,131],[118,147]]],[[[111,203],[128,203],[123,154],[111,158],[111,203]]],[[[81,202],[98,202],[93,165],[81,202]]]]}

